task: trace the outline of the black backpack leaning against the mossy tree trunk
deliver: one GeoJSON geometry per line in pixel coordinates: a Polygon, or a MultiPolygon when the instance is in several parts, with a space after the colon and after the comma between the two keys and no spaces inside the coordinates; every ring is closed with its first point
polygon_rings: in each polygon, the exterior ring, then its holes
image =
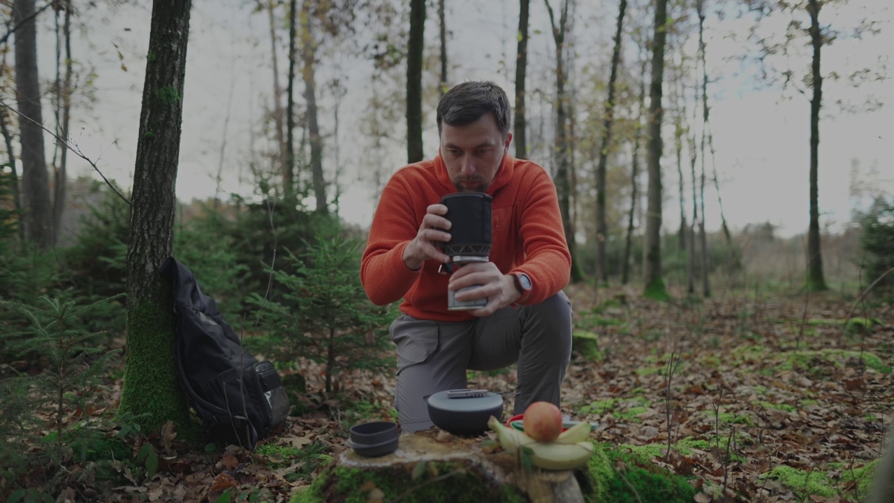
{"type": "Polygon", "coordinates": [[[255,448],[289,413],[279,374],[273,364],[258,362],[242,348],[190,269],[171,257],[158,274],[173,288],[174,362],[190,405],[212,439],[255,448]]]}

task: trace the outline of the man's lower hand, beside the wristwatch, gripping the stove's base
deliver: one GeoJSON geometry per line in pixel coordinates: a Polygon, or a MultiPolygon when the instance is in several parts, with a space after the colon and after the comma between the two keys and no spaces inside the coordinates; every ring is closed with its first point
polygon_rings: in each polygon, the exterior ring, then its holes
{"type": "Polygon", "coordinates": [[[515,287],[515,278],[503,274],[493,262],[473,262],[457,269],[450,277],[448,290],[457,291],[467,286],[480,285],[468,292],[456,294],[460,302],[487,298],[487,305],[475,311],[468,311],[477,317],[488,316],[494,311],[519,300],[521,294],[515,287]]]}

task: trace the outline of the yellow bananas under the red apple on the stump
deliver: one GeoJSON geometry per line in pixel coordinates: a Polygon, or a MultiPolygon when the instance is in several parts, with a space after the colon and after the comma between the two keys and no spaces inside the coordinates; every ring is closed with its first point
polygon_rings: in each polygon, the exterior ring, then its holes
{"type": "Polygon", "coordinates": [[[497,433],[497,439],[506,452],[515,454],[519,448],[522,448],[531,460],[531,465],[545,470],[569,470],[580,465],[584,465],[586,461],[593,455],[593,444],[587,440],[573,441],[583,436],[586,439],[589,436],[589,423],[581,423],[586,426],[577,425],[565,431],[563,441],[554,442],[538,442],[528,437],[524,432],[508,428],[497,421],[495,417],[487,422],[493,431],[497,433]],[[569,433],[569,431],[574,432],[569,433]],[[581,433],[584,431],[584,433],[581,433]]]}

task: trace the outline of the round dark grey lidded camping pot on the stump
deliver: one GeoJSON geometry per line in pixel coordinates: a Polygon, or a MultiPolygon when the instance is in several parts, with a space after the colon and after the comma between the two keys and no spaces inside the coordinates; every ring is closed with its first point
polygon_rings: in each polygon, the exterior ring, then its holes
{"type": "Polygon", "coordinates": [[[502,396],[485,389],[450,389],[428,397],[434,425],[454,435],[480,435],[493,415],[502,419],[502,396]]]}

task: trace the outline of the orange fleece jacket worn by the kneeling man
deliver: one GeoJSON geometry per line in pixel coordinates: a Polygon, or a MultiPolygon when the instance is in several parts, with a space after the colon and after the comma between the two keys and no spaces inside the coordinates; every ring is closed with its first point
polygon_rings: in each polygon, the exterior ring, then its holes
{"type": "MultiPolygon", "coordinates": [[[[475,316],[447,311],[447,275],[426,260],[412,270],[403,250],[416,237],[426,208],[457,192],[441,156],[404,166],[385,185],[369,229],[360,281],[379,305],[403,297],[401,311],[422,320],[460,321],[475,316]]],[[[524,304],[541,303],[568,285],[571,255],[565,242],[556,188],[543,167],[503,157],[487,188],[493,197],[490,260],[503,274],[524,272],[534,287],[524,304]]]]}

